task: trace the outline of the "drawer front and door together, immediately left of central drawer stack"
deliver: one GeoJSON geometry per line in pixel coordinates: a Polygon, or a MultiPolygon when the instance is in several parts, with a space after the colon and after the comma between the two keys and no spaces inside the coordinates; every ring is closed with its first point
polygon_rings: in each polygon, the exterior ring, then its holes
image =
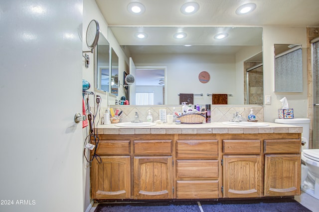
{"type": "Polygon", "coordinates": [[[172,199],[172,140],[134,140],[134,155],[134,199],[172,199]]]}

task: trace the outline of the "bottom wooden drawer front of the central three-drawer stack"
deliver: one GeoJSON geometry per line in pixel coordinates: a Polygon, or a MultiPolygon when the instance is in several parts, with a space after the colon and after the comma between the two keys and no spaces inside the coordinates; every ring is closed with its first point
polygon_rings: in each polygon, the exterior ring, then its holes
{"type": "Polygon", "coordinates": [[[176,181],[177,199],[216,199],[218,181],[176,181]]]}

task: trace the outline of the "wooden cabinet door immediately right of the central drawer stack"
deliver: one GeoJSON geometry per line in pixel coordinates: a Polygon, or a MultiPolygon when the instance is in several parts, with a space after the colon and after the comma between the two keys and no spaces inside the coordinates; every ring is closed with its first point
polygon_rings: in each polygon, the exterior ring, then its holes
{"type": "Polygon", "coordinates": [[[261,196],[261,157],[225,155],[223,160],[224,198],[261,196]]]}

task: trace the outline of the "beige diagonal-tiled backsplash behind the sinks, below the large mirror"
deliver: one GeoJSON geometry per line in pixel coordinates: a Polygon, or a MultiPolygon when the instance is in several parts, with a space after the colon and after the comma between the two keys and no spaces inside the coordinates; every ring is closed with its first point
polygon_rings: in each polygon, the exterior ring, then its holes
{"type": "MultiPolygon", "coordinates": [[[[181,112],[181,105],[111,105],[114,111],[119,109],[123,111],[121,122],[131,122],[134,120],[135,112],[138,112],[140,120],[146,122],[148,111],[151,110],[153,121],[159,120],[160,109],[166,109],[166,113],[172,113],[173,107],[176,112],[181,112]]],[[[106,108],[102,108],[101,112],[106,108]]],[[[254,109],[256,120],[264,121],[264,107],[259,105],[211,105],[211,122],[223,122],[233,119],[233,114],[239,112],[239,115],[247,119],[250,109],[254,109]]],[[[103,117],[103,114],[101,114],[103,117]]]]}

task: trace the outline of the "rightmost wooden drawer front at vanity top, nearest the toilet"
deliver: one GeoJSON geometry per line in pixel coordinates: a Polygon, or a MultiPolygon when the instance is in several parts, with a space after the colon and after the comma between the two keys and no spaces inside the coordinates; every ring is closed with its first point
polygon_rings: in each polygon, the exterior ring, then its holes
{"type": "Polygon", "coordinates": [[[264,152],[267,154],[274,153],[301,153],[300,139],[277,139],[264,140],[264,152]]]}

